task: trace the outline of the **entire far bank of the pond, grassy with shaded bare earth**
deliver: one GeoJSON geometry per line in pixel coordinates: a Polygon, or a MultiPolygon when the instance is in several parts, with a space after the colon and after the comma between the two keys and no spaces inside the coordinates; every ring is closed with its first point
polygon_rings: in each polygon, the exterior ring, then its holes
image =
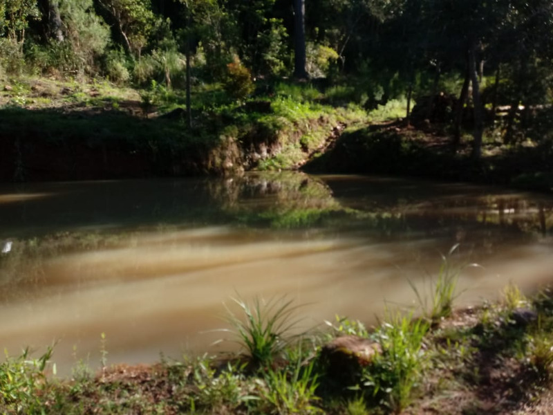
{"type": "Polygon", "coordinates": [[[262,80],[237,100],[222,84],[198,84],[191,127],[184,91],[117,88],[46,78],[5,79],[0,91],[0,179],[77,180],[236,174],[298,169],[422,176],[444,181],[553,188],[551,117],[536,110],[516,140],[488,122],[479,160],[471,122],[460,145],[451,123],[401,120],[406,102],[366,111],[339,86],[262,80]]]}

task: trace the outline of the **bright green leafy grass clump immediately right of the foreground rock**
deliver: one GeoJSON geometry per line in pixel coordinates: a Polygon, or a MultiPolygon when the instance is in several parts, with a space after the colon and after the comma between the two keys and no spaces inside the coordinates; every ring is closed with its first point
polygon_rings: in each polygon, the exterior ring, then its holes
{"type": "Polygon", "coordinates": [[[423,340],[429,324],[414,320],[412,313],[386,314],[387,321],[375,332],[382,353],[375,354],[372,365],[364,369],[362,382],[372,392],[370,398],[399,414],[409,405],[424,369],[423,340]]]}

